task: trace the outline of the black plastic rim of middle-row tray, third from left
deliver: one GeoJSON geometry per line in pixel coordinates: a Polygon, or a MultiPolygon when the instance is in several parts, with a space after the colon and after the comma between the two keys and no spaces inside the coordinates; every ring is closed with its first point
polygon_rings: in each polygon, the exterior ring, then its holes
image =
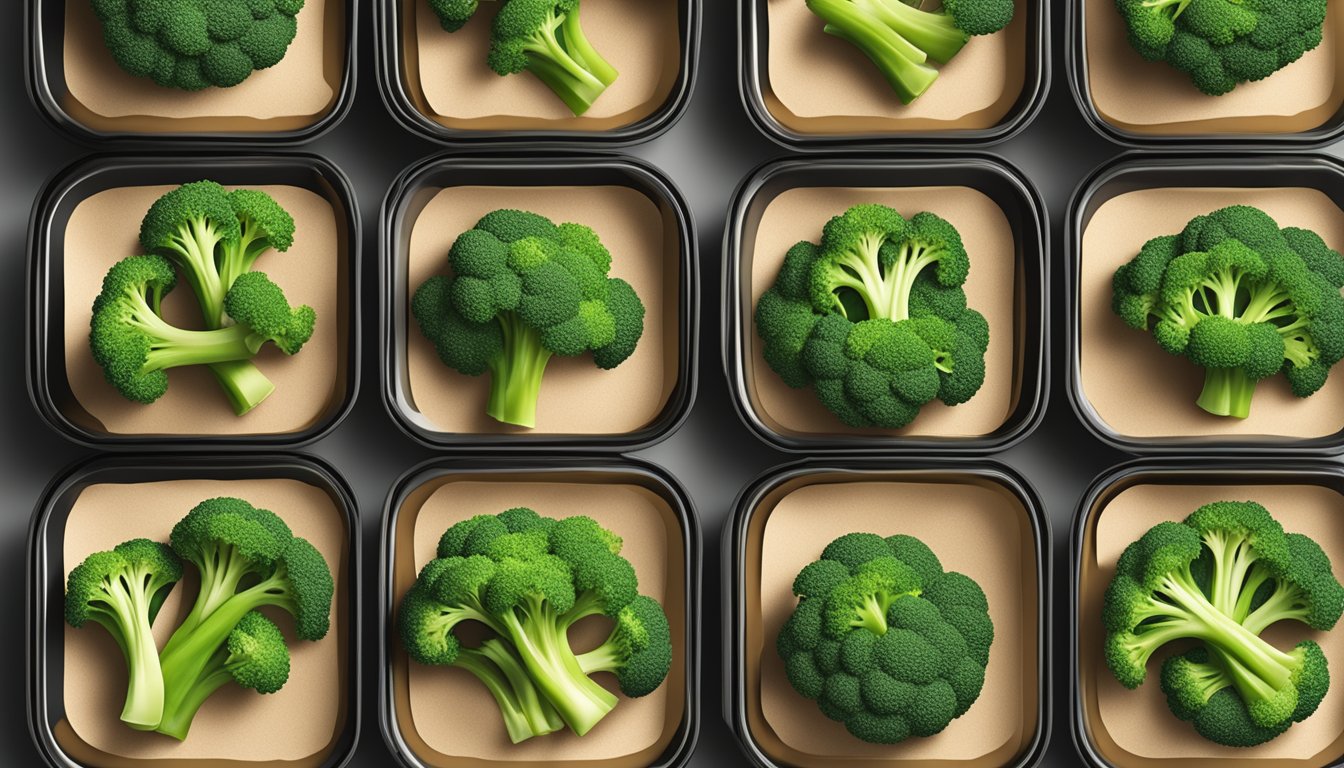
{"type": "MultiPolygon", "coordinates": [[[[913,215],[921,208],[902,211],[913,215]]],[[[835,215],[843,213],[837,206],[835,215]]],[[[933,213],[938,213],[934,210],[933,213]]],[[[1048,238],[1046,206],[1035,187],[1013,167],[982,155],[907,156],[883,159],[808,157],[766,163],[751,172],[738,187],[724,231],[723,258],[723,364],[732,390],[732,402],[742,421],[770,445],[792,452],[991,452],[1001,451],[1023,440],[1040,422],[1050,387],[1050,335],[1047,291],[1050,284],[1048,238]],[[1009,413],[992,432],[977,437],[890,436],[883,430],[844,430],[839,418],[831,418],[835,430],[829,433],[786,433],[771,426],[767,414],[755,399],[749,379],[754,360],[754,344],[759,343],[753,315],[753,276],[750,254],[765,208],[778,195],[805,187],[837,188],[915,188],[968,187],[991,200],[1003,211],[1015,241],[1012,316],[1013,383],[1009,413]]],[[[817,242],[820,227],[808,238],[817,242]]],[[[970,254],[972,273],[977,257],[970,254]]],[[[982,269],[982,268],[981,268],[982,269]]],[[[774,277],[771,276],[773,281],[774,277]]],[[[974,307],[974,303],[972,303],[974,307]]],[[[997,332],[992,330],[992,334],[997,332]]],[[[775,375],[762,369],[762,375],[775,375]]],[[[981,390],[984,391],[984,389],[981,390]]],[[[813,398],[814,399],[814,398],[813,398]]],[[[810,404],[809,404],[810,408],[810,404]]],[[[816,404],[817,409],[825,409],[816,404]]],[[[965,408],[958,406],[958,408],[965,408]]],[[[914,426],[919,425],[919,418],[914,426]]],[[[907,428],[910,429],[910,428],[907,428]]]]}

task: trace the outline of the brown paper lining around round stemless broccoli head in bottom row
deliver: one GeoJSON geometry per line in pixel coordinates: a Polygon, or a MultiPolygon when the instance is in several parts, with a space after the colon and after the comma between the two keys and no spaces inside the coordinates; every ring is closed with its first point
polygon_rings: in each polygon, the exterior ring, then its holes
{"type": "Polygon", "coordinates": [[[972,475],[910,473],[853,480],[797,479],[754,512],[747,539],[746,668],[751,736],[789,765],[900,763],[1007,765],[1036,730],[1038,573],[1027,511],[1003,486],[972,475]],[[927,543],[945,570],[976,580],[989,600],[995,643],[985,687],[966,714],[929,738],[866,744],[797,694],[774,639],[797,607],[794,577],[836,537],[867,531],[910,534],[927,543]],[[759,702],[753,693],[759,691],[759,702]]]}

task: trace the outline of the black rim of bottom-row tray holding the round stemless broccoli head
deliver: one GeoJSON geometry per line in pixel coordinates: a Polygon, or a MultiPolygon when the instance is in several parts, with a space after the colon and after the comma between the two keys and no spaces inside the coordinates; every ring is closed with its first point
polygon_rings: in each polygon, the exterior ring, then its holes
{"type": "MultiPolygon", "coordinates": [[[[794,760],[798,759],[771,755],[771,748],[765,746],[761,737],[758,737],[754,732],[754,728],[757,728],[754,721],[759,717],[759,726],[769,729],[770,737],[780,741],[780,744],[774,746],[775,749],[782,745],[784,749],[797,752],[794,748],[780,740],[780,737],[774,733],[773,726],[769,724],[767,717],[751,713],[753,707],[758,706],[757,702],[761,698],[759,681],[757,681],[758,685],[753,689],[751,675],[749,674],[749,654],[753,651],[753,648],[749,648],[749,635],[751,633],[749,629],[749,611],[753,609],[750,608],[750,604],[753,601],[753,589],[755,588],[753,578],[761,578],[759,570],[763,560],[763,545],[753,542],[763,539],[765,535],[765,523],[758,523],[757,519],[762,515],[769,515],[788,495],[804,488],[827,484],[843,487],[845,484],[880,482],[935,483],[946,486],[966,484],[977,487],[992,486],[993,488],[1011,496],[1015,503],[1020,506],[1024,515],[1021,525],[1024,529],[1030,529],[1024,530],[1023,549],[1031,551],[1028,560],[1031,560],[1035,566],[1035,584],[1023,585],[1024,594],[1031,594],[1036,604],[1034,617],[1024,619],[1024,623],[1030,623],[1036,635],[1036,648],[1027,650],[1027,655],[1031,656],[1032,662],[1036,664],[1036,673],[1039,677],[1036,702],[1035,707],[1032,707],[1035,725],[1031,728],[1028,734],[1024,734],[1021,748],[1015,751],[1012,755],[1007,755],[1003,761],[992,761],[995,760],[996,751],[986,756],[970,760],[966,764],[980,765],[981,768],[1028,768],[1031,765],[1036,765],[1044,757],[1052,728],[1052,654],[1050,650],[1052,642],[1052,581],[1050,521],[1046,516],[1040,498],[1036,495],[1036,491],[1031,487],[1031,484],[1008,467],[992,461],[968,463],[965,460],[931,459],[915,461],[913,464],[906,463],[899,468],[894,468],[890,463],[870,459],[835,461],[804,460],[769,469],[742,490],[734,502],[732,511],[730,512],[728,521],[723,527],[720,562],[723,569],[722,599],[724,628],[722,705],[723,718],[737,737],[738,746],[750,763],[758,768],[784,768],[786,765],[796,765],[794,760]]],[[[899,516],[900,512],[894,511],[892,514],[899,516]]],[[[817,554],[820,554],[820,547],[824,546],[824,543],[825,542],[821,539],[816,542],[816,546],[818,547],[817,554]]],[[[939,553],[938,547],[934,547],[934,554],[939,554],[946,558],[946,553],[939,553]]],[[[761,589],[763,589],[763,586],[761,589]]],[[[755,597],[755,600],[762,604],[759,608],[763,611],[763,597],[755,597]]],[[[765,632],[763,621],[758,632],[765,632]]],[[[769,650],[771,647],[771,639],[757,638],[757,640],[759,640],[762,654],[771,652],[769,650]]],[[[765,673],[759,668],[755,671],[758,678],[763,674],[765,673]]],[[[981,695],[981,698],[984,698],[984,695],[981,695]]],[[[801,697],[798,697],[796,703],[806,707],[814,706],[812,702],[808,702],[801,697]]],[[[973,709],[974,705],[972,706],[972,710],[973,709]]],[[[820,713],[817,717],[821,717],[820,713]]],[[[845,736],[848,737],[848,734],[845,736]]],[[[824,755],[805,756],[817,759],[816,763],[812,763],[813,765],[902,765],[907,763],[900,757],[879,759],[872,755],[864,757],[839,757],[824,755]]],[[[934,763],[950,763],[950,760],[930,757],[909,761],[909,764],[918,765],[934,763]]],[[[798,765],[805,765],[805,763],[798,763],[798,765]]]]}

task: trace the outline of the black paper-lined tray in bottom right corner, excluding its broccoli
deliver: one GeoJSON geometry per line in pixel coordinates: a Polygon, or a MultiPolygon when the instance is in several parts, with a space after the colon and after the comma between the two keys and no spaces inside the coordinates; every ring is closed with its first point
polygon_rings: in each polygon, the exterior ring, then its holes
{"type": "MultiPolygon", "coordinates": [[[[1125,546],[1163,521],[1180,522],[1222,500],[1263,504],[1284,529],[1316,539],[1335,564],[1344,560],[1344,471],[1318,461],[1164,459],[1130,461],[1098,477],[1074,519],[1070,612],[1070,724],[1093,768],[1324,768],[1344,760],[1344,697],[1331,691],[1316,714],[1261,746],[1222,746],[1177,720],[1161,693],[1165,650],[1136,690],[1116,682],[1102,658],[1101,604],[1125,546]]],[[[1286,623],[1271,642],[1321,644],[1331,664],[1344,658],[1344,632],[1286,623]],[[1282,633],[1279,633],[1282,631],[1282,633]]]]}

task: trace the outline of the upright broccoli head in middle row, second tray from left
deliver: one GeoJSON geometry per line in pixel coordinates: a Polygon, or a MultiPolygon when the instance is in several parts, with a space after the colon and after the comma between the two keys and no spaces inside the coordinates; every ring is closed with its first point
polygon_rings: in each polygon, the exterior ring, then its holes
{"type": "Polygon", "coordinates": [[[536,399],[552,355],[591,352],[603,370],[634,352],[644,303],[609,277],[612,254],[577,223],[499,210],[462,233],[448,253],[452,276],[426,280],[411,313],[448,367],[489,373],[485,412],[517,426],[536,425],[536,399]]]}

